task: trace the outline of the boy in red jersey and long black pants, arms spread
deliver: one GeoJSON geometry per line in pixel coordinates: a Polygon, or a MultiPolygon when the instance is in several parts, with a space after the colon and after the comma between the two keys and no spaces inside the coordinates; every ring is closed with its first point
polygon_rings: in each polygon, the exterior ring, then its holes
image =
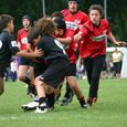
{"type": "Polygon", "coordinates": [[[84,40],[80,47],[80,55],[87,72],[89,83],[87,103],[92,106],[97,99],[99,75],[106,56],[106,36],[116,45],[124,45],[125,42],[116,41],[110,32],[108,21],[102,19],[102,6],[91,6],[88,13],[89,21],[84,23],[84,28],[74,36],[74,40],[84,40]]]}

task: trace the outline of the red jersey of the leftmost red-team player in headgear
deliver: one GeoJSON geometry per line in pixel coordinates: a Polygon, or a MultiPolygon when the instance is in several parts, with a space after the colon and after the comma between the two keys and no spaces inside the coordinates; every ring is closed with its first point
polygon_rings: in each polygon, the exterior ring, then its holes
{"type": "Polygon", "coordinates": [[[23,28],[18,31],[18,43],[21,50],[27,50],[28,46],[28,31],[23,28]]]}

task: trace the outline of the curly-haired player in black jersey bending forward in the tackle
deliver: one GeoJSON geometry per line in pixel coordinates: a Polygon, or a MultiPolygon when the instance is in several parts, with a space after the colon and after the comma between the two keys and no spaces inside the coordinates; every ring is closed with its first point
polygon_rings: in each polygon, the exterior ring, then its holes
{"type": "MultiPolygon", "coordinates": [[[[47,110],[47,94],[54,97],[54,91],[67,74],[68,59],[61,43],[53,38],[55,31],[53,21],[49,18],[39,19],[35,29],[40,32],[40,35],[36,39],[40,41],[34,43],[36,43],[35,45],[38,49],[42,49],[43,51],[43,55],[36,60],[40,63],[44,63],[46,66],[42,72],[39,72],[40,74],[35,74],[35,86],[40,98],[40,105],[35,113],[44,113],[47,110]]],[[[44,64],[40,64],[42,68],[44,64]]],[[[39,63],[35,64],[35,73],[40,65],[39,63]]],[[[52,98],[52,100],[54,98],[52,98]]]]}

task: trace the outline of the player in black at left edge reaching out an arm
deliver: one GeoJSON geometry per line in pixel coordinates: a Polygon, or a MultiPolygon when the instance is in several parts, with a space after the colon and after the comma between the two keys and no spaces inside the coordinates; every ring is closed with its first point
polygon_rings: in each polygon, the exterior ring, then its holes
{"type": "Polygon", "coordinates": [[[20,52],[13,32],[13,18],[9,14],[0,15],[0,95],[3,93],[4,70],[9,66],[12,55],[36,57],[42,51],[36,50],[34,53],[20,52]]]}

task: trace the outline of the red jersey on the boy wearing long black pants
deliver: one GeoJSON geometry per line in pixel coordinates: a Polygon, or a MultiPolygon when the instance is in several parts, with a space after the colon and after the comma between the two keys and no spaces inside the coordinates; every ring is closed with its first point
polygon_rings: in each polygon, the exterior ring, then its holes
{"type": "Polygon", "coordinates": [[[110,29],[107,20],[100,20],[99,25],[94,25],[91,21],[84,24],[81,30],[83,43],[80,45],[81,57],[95,57],[106,54],[106,34],[109,34],[110,29]]]}

